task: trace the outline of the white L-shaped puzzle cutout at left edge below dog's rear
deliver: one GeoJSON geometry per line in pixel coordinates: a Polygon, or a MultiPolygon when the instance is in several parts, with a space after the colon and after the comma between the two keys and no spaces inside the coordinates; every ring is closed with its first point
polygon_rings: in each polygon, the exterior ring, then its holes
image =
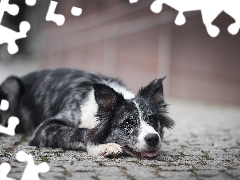
{"type": "Polygon", "coordinates": [[[0,133],[7,134],[10,136],[15,135],[15,128],[19,124],[19,119],[17,117],[11,116],[8,119],[8,127],[4,127],[0,125],[0,133]]]}

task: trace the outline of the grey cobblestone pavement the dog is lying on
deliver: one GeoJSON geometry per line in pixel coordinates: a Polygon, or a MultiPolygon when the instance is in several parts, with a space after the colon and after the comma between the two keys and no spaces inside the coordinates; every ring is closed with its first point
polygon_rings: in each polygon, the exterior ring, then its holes
{"type": "Polygon", "coordinates": [[[0,162],[12,166],[9,177],[21,179],[25,163],[16,160],[24,150],[35,163],[47,162],[41,180],[81,179],[240,179],[240,107],[170,100],[176,126],[166,131],[155,160],[132,157],[91,157],[85,152],[27,146],[27,137],[0,136],[0,162]]]}

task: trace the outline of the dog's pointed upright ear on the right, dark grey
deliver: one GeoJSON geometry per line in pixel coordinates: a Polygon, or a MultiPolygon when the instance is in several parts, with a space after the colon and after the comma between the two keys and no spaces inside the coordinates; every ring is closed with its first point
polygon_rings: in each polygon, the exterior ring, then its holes
{"type": "Polygon", "coordinates": [[[138,95],[145,99],[153,100],[155,103],[164,103],[162,81],[165,78],[166,76],[153,80],[147,86],[141,88],[138,91],[138,95]]]}

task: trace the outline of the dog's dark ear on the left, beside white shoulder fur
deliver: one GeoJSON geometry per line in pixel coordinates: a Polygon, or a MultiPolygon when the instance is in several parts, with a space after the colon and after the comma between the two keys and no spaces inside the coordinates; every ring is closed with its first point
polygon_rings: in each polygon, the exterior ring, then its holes
{"type": "Polygon", "coordinates": [[[104,111],[113,110],[118,103],[124,100],[122,94],[105,84],[94,83],[93,89],[98,107],[104,111]]]}

